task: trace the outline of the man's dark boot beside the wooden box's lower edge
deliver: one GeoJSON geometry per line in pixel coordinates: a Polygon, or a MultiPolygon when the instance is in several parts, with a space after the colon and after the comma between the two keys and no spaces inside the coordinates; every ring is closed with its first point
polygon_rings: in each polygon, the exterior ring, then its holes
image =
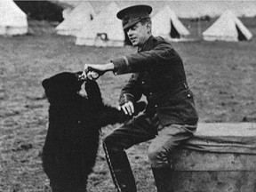
{"type": "Polygon", "coordinates": [[[172,187],[172,169],[170,166],[164,168],[152,168],[156,182],[157,192],[174,192],[172,187]]]}

